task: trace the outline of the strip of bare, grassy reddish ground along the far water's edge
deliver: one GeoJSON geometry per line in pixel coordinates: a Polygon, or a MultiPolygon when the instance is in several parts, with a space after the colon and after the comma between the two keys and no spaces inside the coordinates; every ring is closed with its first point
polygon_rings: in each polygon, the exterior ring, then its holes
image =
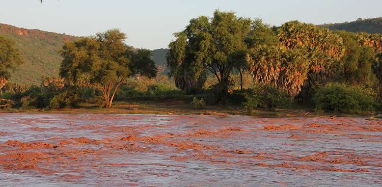
{"type": "MultiPolygon", "coordinates": [[[[99,108],[97,105],[83,103],[76,109],[62,110],[0,110],[0,113],[51,113],[51,114],[70,114],[70,113],[90,113],[90,114],[156,114],[156,115],[248,115],[243,106],[205,106],[203,109],[195,109],[190,103],[182,100],[131,100],[117,101],[111,108],[99,108]]],[[[370,115],[350,115],[339,113],[318,113],[311,109],[276,109],[274,111],[254,111],[252,116],[257,117],[317,117],[317,116],[337,116],[337,117],[369,117],[370,115]]]]}

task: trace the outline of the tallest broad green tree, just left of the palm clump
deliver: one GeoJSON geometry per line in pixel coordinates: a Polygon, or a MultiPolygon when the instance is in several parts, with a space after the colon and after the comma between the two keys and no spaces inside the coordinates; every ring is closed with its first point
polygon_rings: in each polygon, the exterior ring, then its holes
{"type": "Polygon", "coordinates": [[[169,44],[171,74],[187,71],[197,82],[208,70],[216,76],[220,99],[225,100],[229,77],[237,64],[237,53],[247,49],[245,38],[251,31],[251,22],[251,19],[237,17],[234,12],[219,10],[212,18],[201,16],[191,19],[186,29],[176,33],[176,40],[169,44]]]}

